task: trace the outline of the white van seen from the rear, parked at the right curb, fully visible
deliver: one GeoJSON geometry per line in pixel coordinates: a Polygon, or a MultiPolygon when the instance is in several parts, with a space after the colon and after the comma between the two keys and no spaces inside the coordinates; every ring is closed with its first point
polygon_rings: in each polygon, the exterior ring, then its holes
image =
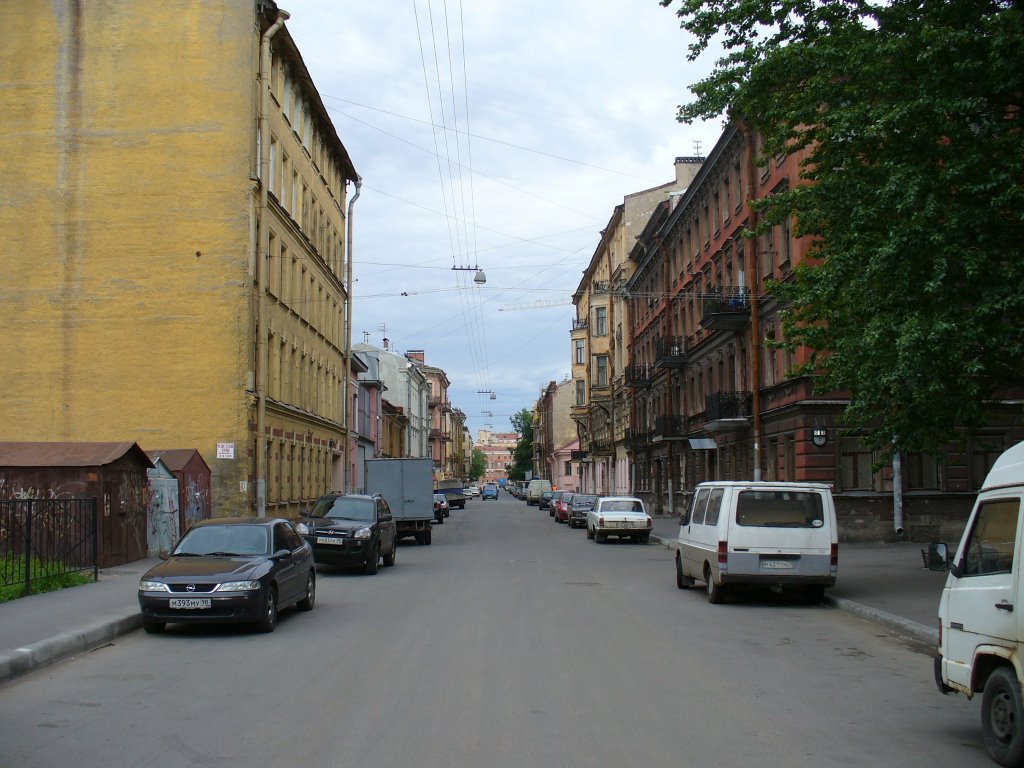
{"type": "Polygon", "coordinates": [[[713,603],[739,584],[798,587],[821,602],[838,564],[831,489],[816,482],[702,482],[676,542],[676,586],[703,582],[713,603]]]}

